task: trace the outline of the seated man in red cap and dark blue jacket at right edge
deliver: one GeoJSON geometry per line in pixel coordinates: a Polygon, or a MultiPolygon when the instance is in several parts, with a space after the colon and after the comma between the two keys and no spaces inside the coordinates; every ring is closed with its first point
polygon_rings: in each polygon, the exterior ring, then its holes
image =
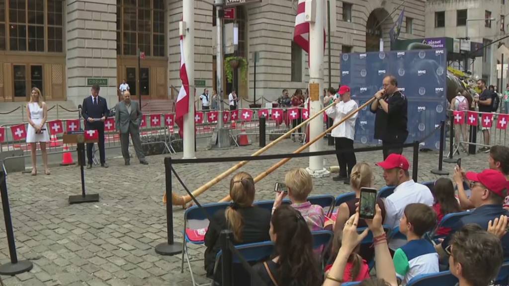
{"type": "MultiPolygon", "coordinates": [[[[462,170],[455,168],[454,178],[457,182],[462,182],[462,170]]],[[[449,247],[452,234],[459,231],[465,224],[478,224],[483,230],[487,230],[490,221],[495,220],[501,215],[509,215],[509,212],[502,208],[505,196],[507,195],[507,181],[500,171],[485,169],[481,173],[468,172],[465,178],[470,181],[472,195],[470,201],[475,210],[470,215],[462,217],[451,230],[451,233],[435,246],[440,256],[445,257],[444,249],[449,247]]],[[[458,185],[460,187],[460,185],[458,185]]],[[[509,236],[503,236],[502,247],[504,257],[509,257],[509,236]]]]}

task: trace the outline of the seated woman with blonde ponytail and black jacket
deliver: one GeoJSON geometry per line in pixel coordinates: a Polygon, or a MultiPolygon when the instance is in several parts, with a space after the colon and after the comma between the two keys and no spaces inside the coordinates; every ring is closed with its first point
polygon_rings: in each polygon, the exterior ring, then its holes
{"type": "MultiPolygon", "coordinates": [[[[217,211],[212,217],[205,234],[205,270],[212,277],[216,254],[220,249],[219,234],[222,230],[233,232],[234,244],[267,241],[270,228],[270,212],[253,206],[254,181],[244,172],[238,173],[230,181],[232,203],[226,211],[217,211]]],[[[220,272],[219,272],[220,273],[220,272]]],[[[220,275],[219,275],[220,276],[220,275]]],[[[236,275],[234,279],[237,278],[236,275]]],[[[217,279],[216,279],[217,280],[217,279]]]]}

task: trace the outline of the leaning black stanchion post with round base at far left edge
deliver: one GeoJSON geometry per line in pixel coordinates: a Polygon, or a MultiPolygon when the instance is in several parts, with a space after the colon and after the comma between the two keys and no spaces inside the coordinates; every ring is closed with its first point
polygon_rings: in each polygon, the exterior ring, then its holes
{"type": "Polygon", "coordinates": [[[7,243],[9,245],[9,255],[11,262],[0,265],[0,274],[16,275],[32,270],[32,262],[23,260],[18,261],[16,254],[16,244],[14,243],[14,231],[12,229],[11,209],[9,207],[9,197],[7,193],[7,173],[4,169],[4,163],[0,163],[0,195],[2,196],[2,208],[4,209],[5,231],[7,233],[7,243]]]}

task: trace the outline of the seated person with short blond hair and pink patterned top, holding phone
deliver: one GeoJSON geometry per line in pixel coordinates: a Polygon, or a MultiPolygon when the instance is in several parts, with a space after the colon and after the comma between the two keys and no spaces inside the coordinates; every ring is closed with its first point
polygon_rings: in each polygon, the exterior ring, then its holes
{"type": "MultiPolygon", "coordinates": [[[[321,231],[325,221],[323,208],[307,202],[307,196],[313,190],[313,179],[303,168],[289,170],[285,176],[285,184],[288,188],[288,197],[292,201],[292,207],[304,217],[309,230],[321,231]]],[[[279,207],[286,193],[276,194],[272,211],[279,207]]]]}

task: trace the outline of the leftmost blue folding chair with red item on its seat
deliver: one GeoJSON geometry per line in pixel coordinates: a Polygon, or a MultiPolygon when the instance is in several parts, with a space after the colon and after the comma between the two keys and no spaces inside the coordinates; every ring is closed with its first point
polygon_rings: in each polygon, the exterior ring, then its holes
{"type": "MultiPolygon", "coordinates": [[[[180,266],[180,273],[184,272],[184,258],[185,258],[187,261],[187,265],[189,267],[189,272],[191,273],[191,280],[192,280],[193,285],[200,285],[200,284],[197,284],[194,280],[194,274],[192,273],[192,269],[191,269],[191,262],[200,261],[203,259],[190,260],[189,254],[187,253],[187,243],[203,245],[205,243],[205,241],[204,241],[204,237],[200,238],[200,239],[191,239],[188,236],[186,230],[188,232],[203,230],[204,228],[209,226],[209,219],[204,214],[204,211],[210,217],[212,217],[217,211],[226,210],[226,208],[228,206],[230,206],[229,202],[213,203],[213,204],[202,205],[203,210],[200,209],[200,207],[198,207],[198,206],[192,206],[184,212],[184,230],[182,231],[184,238],[182,241],[182,262],[181,262],[181,266],[180,266]]],[[[209,283],[203,284],[203,285],[208,285],[208,284],[209,283]]]]}

